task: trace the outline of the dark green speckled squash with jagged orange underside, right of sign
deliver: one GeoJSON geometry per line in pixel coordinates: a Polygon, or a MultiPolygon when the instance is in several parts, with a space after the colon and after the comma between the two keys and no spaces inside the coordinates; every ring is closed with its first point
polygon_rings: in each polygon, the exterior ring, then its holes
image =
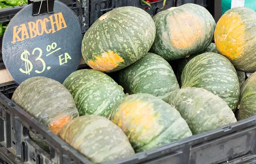
{"type": "Polygon", "coordinates": [[[155,39],[152,17],[138,7],[118,7],[99,17],[84,34],[82,55],[88,66],[113,72],[131,65],[155,39]]]}

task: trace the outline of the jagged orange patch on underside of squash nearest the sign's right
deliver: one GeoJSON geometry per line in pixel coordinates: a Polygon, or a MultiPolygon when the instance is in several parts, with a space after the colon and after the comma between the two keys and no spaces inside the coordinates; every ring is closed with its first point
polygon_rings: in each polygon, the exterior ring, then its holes
{"type": "Polygon", "coordinates": [[[89,60],[88,65],[95,70],[110,71],[115,69],[124,59],[113,51],[105,51],[101,56],[95,56],[95,60],[89,60]]]}

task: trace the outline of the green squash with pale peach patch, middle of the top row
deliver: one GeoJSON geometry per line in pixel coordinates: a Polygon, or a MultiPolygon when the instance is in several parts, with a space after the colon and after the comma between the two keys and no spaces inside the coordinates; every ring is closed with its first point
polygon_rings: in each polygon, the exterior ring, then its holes
{"type": "Polygon", "coordinates": [[[206,8],[184,4],[157,13],[155,41],[150,52],[166,60],[185,58],[204,50],[213,40],[215,20],[206,8]]]}

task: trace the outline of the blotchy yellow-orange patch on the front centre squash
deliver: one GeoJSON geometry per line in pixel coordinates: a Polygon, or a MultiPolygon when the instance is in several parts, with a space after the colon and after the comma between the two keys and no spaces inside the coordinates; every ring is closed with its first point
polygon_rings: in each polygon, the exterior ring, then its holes
{"type": "Polygon", "coordinates": [[[159,114],[153,104],[140,100],[127,101],[120,105],[112,122],[117,124],[130,140],[151,140],[159,134],[163,126],[159,125],[159,114]]]}

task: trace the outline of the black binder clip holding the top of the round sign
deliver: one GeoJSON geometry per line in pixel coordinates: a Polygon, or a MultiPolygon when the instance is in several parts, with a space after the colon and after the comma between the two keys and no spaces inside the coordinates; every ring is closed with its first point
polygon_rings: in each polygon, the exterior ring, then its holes
{"type": "Polygon", "coordinates": [[[54,13],[54,0],[28,0],[28,4],[33,3],[33,16],[54,13]]]}

